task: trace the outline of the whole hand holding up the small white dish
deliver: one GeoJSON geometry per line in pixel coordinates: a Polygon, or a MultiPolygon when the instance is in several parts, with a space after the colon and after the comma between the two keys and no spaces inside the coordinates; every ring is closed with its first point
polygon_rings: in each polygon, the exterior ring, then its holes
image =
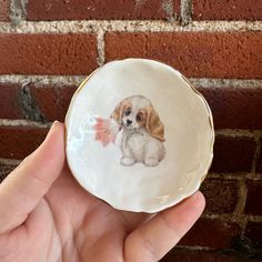
{"type": "Polygon", "coordinates": [[[64,157],[64,127],[0,184],[0,261],[160,260],[203,211],[196,192],[154,215],[114,210],[83,190],[64,157]]]}

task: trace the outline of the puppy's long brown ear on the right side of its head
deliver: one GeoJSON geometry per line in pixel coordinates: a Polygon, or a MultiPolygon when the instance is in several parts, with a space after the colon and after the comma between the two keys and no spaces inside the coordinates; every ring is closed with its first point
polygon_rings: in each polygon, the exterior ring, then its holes
{"type": "Polygon", "coordinates": [[[145,128],[149,134],[161,142],[164,141],[164,125],[160,121],[159,114],[152,105],[147,107],[147,123],[145,128]]]}

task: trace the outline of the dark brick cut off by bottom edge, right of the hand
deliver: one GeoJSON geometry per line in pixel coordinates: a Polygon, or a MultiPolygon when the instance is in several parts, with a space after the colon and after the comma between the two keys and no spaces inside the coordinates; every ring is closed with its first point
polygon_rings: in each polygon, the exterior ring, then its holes
{"type": "MultiPolygon", "coordinates": [[[[175,248],[160,262],[240,262],[233,254],[223,254],[215,250],[190,250],[175,248]]],[[[242,261],[243,262],[243,261],[242,261]]]]}

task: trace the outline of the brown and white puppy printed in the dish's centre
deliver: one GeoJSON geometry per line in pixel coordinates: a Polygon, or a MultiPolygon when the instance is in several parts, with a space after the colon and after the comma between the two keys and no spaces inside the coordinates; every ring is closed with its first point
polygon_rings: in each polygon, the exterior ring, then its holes
{"type": "Polygon", "coordinates": [[[142,95],[122,100],[110,115],[122,130],[120,163],[155,167],[164,158],[164,125],[151,102],[142,95]]]}

